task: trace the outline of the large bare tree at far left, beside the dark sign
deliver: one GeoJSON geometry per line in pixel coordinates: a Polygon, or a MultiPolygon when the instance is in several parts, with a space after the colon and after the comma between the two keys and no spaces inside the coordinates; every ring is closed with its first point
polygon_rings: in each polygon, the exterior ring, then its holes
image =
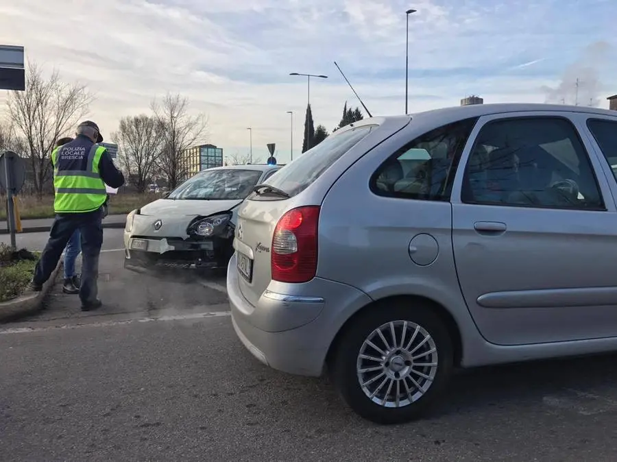
{"type": "Polygon", "coordinates": [[[17,136],[23,137],[25,156],[34,173],[34,191],[43,195],[49,178],[49,155],[56,141],[66,134],[88,111],[93,98],[82,84],[67,84],[54,69],[45,78],[43,70],[28,62],[25,91],[11,91],[8,116],[17,136]]]}

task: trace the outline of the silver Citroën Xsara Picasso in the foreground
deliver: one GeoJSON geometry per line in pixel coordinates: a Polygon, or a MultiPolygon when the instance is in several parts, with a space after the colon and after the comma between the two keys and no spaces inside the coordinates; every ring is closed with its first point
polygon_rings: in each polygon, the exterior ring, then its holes
{"type": "Polygon", "coordinates": [[[617,350],[617,112],[476,105],[328,136],[239,208],[233,325],[407,422],[452,369],[617,350]]]}

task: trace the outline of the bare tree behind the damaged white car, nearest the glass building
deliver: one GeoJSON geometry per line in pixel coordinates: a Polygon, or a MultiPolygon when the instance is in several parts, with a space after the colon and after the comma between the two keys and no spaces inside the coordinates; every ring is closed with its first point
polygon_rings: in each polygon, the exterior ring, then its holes
{"type": "Polygon", "coordinates": [[[168,93],[160,104],[154,101],[152,110],[160,123],[163,143],[156,163],[169,189],[174,189],[189,173],[184,151],[204,142],[208,122],[204,114],[191,116],[189,100],[178,94],[168,93]]]}

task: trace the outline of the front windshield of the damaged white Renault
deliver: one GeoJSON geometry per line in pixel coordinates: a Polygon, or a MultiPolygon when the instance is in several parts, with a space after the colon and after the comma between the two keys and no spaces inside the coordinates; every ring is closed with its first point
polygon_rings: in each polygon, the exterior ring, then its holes
{"type": "Polygon", "coordinates": [[[167,199],[245,199],[261,177],[261,170],[206,170],[189,178],[169,193],[167,199]]]}

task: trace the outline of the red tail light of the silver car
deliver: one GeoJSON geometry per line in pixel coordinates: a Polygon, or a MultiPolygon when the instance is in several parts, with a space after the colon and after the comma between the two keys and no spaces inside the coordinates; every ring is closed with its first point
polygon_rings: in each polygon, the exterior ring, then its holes
{"type": "Polygon", "coordinates": [[[319,206],[293,208],[280,217],[272,237],[273,280],[307,282],[315,277],[318,223],[319,206]]]}

